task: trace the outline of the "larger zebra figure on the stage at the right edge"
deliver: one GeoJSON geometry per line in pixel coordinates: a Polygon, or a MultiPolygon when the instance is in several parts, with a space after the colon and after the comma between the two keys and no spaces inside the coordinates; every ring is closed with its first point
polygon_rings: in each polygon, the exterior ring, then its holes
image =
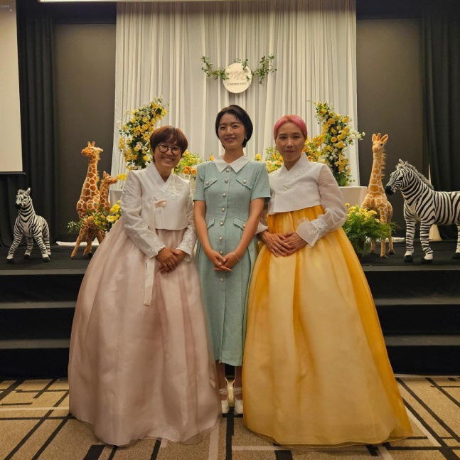
{"type": "MultiPolygon", "coordinates": [[[[429,247],[429,229],[433,224],[456,224],[460,235],[460,192],[437,192],[428,179],[412,164],[400,160],[390,176],[385,192],[392,195],[401,189],[404,198],[406,221],[406,253],[404,262],[412,262],[414,253],[415,224],[420,223],[420,242],[425,252],[422,264],[433,261],[433,250],[429,247]]],[[[451,259],[460,259],[460,238],[457,237],[456,252],[451,259]]]]}

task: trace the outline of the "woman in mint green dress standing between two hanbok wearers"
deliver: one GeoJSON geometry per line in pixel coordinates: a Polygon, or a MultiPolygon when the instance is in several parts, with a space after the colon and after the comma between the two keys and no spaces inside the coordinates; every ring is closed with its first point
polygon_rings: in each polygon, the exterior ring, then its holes
{"type": "Polygon", "coordinates": [[[242,414],[247,290],[257,257],[255,232],[270,188],[265,164],[243,153],[252,135],[252,122],[245,110],[237,105],[222,109],[215,120],[215,133],[225,152],[198,166],[193,198],[199,238],[197,263],[222,410],[229,410],[227,363],[235,366],[235,412],[242,414]]]}

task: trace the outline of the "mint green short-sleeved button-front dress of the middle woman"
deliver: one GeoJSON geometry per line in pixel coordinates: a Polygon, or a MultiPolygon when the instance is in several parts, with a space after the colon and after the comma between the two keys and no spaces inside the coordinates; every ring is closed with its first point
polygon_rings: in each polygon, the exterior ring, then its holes
{"type": "MultiPolygon", "coordinates": [[[[240,171],[229,164],[219,173],[213,161],[198,165],[193,200],[205,201],[205,222],[213,250],[227,255],[240,243],[250,202],[270,198],[267,167],[250,160],[240,171]]],[[[198,242],[197,263],[215,360],[242,365],[246,335],[247,291],[257,257],[253,238],[231,272],[216,272],[198,242]]]]}

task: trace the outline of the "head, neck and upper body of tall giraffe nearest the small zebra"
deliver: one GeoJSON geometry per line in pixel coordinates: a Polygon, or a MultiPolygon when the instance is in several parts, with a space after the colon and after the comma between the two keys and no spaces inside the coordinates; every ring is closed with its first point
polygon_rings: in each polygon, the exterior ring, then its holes
{"type": "Polygon", "coordinates": [[[88,170],[83,182],[82,193],[77,202],[77,213],[80,219],[85,218],[88,210],[95,211],[99,207],[99,190],[97,183],[99,182],[99,173],[97,173],[97,163],[99,154],[103,150],[95,147],[95,142],[88,142],[88,146],[82,150],[82,155],[87,156],[88,170]]]}

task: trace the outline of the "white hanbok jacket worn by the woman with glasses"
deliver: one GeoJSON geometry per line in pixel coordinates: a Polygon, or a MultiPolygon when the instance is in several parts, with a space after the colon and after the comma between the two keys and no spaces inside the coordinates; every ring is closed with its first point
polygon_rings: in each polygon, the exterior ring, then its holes
{"type": "Polygon", "coordinates": [[[171,173],[166,182],[151,163],[142,171],[130,171],[124,184],[122,221],[129,237],[151,258],[164,247],[155,229],[183,230],[178,249],[191,260],[196,242],[193,224],[193,200],[189,181],[171,173]]]}

